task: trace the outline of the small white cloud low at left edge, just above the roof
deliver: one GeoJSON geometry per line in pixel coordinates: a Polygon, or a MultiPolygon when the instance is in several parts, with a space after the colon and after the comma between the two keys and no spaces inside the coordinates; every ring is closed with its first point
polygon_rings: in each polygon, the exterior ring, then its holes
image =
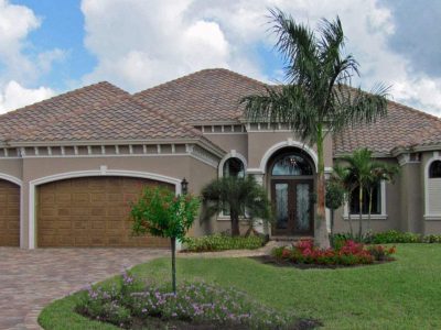
{"type": "Polygon", "coordinates": [[[18,109],[53,97],[55,91],[47,87],[28,89],[15,80],[9,81],[0,91],[0,113],[18,109]]]}

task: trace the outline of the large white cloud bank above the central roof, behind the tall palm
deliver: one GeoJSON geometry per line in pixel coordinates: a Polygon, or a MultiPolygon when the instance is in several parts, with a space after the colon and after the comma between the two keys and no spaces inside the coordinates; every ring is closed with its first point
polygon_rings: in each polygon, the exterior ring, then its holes
{"type": "Polygon", "coordinates": [[[137,91],[207,67],[275,80],[280,70],[268,74],[256,51],[275,43],[267,24],[268,8],[275,7],[312,26],[340,15],[347,52],[362,65],[363,78],[356,82],[368,89],[384,81],[395,86],[397,101],[441,113],[441,100],[433,97],[440,80],[390,46],[406,35],[395,11],[379,0],[83,0],[85,44],[98,61],[84,81],[106,79],[137,91]]]}

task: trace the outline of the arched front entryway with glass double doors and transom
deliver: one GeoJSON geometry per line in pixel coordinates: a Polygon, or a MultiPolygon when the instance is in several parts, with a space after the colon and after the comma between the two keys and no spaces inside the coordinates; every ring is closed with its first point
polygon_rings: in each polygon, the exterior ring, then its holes
{"type": "Polygon", "coordinates": [[[272,235],[313,235],[315,166],[301,148],[278,151],[268,162],[275,211],[272,235]]]}

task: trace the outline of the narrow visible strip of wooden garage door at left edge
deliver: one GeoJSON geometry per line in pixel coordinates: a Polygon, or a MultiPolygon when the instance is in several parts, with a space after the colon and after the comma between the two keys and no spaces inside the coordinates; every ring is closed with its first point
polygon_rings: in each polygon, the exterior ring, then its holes
{"type": "Polygon", "coordinates": [[[20,187],[0,179],[0,246],[20,246],[20,187]]]}

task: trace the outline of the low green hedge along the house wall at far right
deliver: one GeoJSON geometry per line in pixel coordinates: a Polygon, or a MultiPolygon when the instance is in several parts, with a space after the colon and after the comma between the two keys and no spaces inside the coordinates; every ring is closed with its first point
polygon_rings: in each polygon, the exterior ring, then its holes
{"type": "Polygon", "coordinates": [[[331,240],[335,241],[345,241],[345,240],[354,240],[362,241],[367,244],[389,244],[389,243],[441,243],[441,234],[438,235],[422,235],[412,232],[399,232],[396,230],[388,230],[385,232],[377,232],[365,234],[362,240],[358,238],[351,235],[349,233],[336,233],[331,240]]]}

